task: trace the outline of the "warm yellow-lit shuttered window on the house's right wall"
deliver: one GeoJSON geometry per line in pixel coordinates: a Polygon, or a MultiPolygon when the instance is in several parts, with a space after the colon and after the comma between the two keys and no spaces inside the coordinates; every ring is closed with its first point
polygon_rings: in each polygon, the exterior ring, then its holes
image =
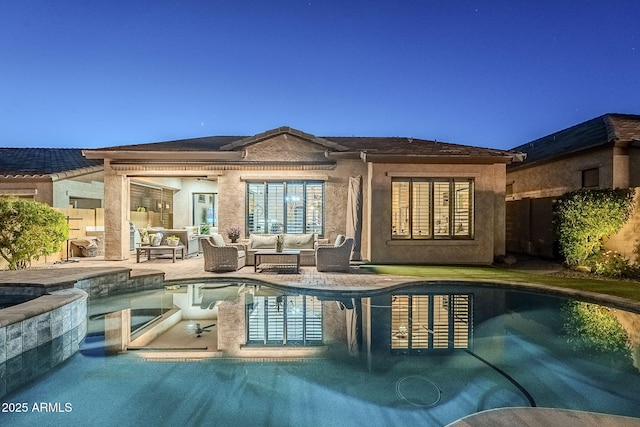
{"type": "Polygon", "coordinates": [[[394,179],[391,227],[393,239],[473,238],[473,180],[394,179]]]}

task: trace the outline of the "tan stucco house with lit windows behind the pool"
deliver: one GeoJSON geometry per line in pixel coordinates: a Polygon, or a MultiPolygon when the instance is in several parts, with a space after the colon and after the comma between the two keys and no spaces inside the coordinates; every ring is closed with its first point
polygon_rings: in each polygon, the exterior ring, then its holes
{"type": "Polygon", "coordinates": [[[163,191],[173,228],[354,234],[373,263],[488,264],[505,253],[514,151],[403,137],[317,137],[290,127],[84,150],[104,162],[105,257],[130,256],[131,182],[163,191]],[[202,209],[202,206],[205,209],[202,209]],[[347,218],[351,218],[347,220],[347,218]]]}

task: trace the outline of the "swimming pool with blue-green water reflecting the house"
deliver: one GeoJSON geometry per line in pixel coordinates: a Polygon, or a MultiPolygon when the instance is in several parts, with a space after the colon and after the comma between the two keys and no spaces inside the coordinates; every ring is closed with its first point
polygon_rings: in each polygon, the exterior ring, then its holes
{"type": "Polygon", "coordinates": [[[5,396],[4,404],[26,403],[28,411],[2,419],[12,425],[446,425],[482,410],[522,406],[640,417],[634,360],[640,316],[578,307],[595,310],[591,323],[609,331],[617,322],[616,330],[635,340],[631,348],[602,352],[585,344],[602,341],[597,331],[582,340],[575,334],[580,328],[571,316],[582,314],[572,304],[463,283],[314,294],[210,282],[95,298],[81,351],[5,396]],[[107,355],[99,320],[105,313],[170,314],[174,306],[185,319],[137,350],[107,355]],[[603,313],[609,315],[598,317],[603,313]],[[197,336],[195,325],[213,323],[197,336]],[[51,411],[34,411],[40,403],[51,411]]]}

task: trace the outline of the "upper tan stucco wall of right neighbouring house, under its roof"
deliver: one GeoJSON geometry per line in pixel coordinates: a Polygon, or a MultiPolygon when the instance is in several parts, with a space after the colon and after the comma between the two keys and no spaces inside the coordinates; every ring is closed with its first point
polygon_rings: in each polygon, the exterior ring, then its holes
{"type": "Polygon", "coordinates": [[[611,149],[576,154],[515,171],[507,171],[507,184],[513,185],[510,200],[557,197],[567,191],[582,188],[582,171],[600,169],[600,187],[610,188],[613,182],[611,149]]]}

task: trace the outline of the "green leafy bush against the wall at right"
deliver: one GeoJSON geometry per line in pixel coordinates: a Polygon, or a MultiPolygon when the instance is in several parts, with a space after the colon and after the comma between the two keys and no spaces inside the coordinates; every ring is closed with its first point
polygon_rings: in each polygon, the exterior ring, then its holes
{"type": "Polygon", "coordinates": [[[584,265],[633,211],[632,190],[577,190],[555,201],[554,225],[569,266],[584,265]]]}

